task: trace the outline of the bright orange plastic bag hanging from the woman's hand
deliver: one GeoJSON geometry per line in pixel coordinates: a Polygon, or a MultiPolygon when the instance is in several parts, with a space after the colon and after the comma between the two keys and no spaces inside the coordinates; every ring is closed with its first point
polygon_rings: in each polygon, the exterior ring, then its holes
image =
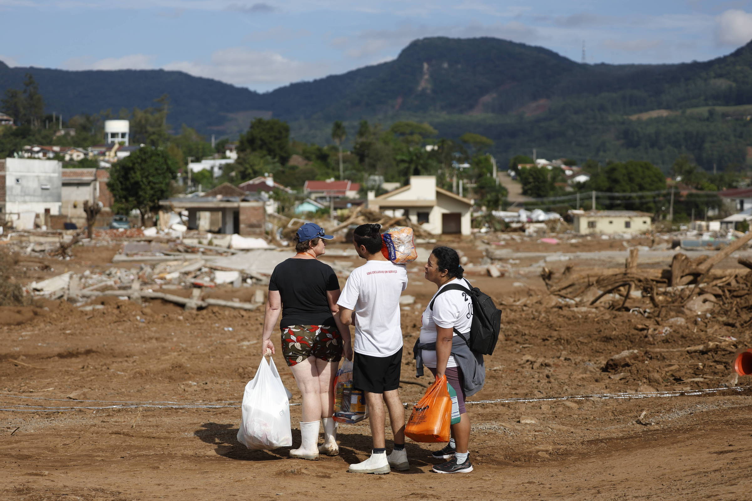
{"type": "Polygon", "coordinates": [[[449,442],[452,399],[447,391],[447,377],[441,376],[413,406],[405,435],[415,442],[449,442]]]}

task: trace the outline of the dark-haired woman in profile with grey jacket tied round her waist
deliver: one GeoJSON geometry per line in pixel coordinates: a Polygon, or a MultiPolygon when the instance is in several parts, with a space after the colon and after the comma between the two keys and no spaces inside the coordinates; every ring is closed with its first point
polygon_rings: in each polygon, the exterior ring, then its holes
{"type": "Polygon", "coordinates": [[[472,285],[462,278],[459,255],[450,247],[433,249],[424,270],[426,280],[435,283],[438,291],[423,312],[420,339],[413,350],[416,376],[423,375],[424,364],[437,379],[446,376],[456,391],[460,415],[459,423],[451,427],[450,442],[432,453],[432,457],[448,461],[432,469],[437,473],[472,472],[468,459],[470,418],[465,410],[465,397],[480,391],[485,381],[483,356],[468,346],[473,321],[472,285]]]}

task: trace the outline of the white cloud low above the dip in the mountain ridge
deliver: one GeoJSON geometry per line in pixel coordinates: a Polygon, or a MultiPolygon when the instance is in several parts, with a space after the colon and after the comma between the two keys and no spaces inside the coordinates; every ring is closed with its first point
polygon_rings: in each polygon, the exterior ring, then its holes
{"type": "Polygon", "coordinates": [[[330,70],[328,65],[320,62],[296,61],[279,53],[247,47],[229,47],[215,51],[208,61],[177,61],[162,68],[252,88],[324,77],[330,70]]]}

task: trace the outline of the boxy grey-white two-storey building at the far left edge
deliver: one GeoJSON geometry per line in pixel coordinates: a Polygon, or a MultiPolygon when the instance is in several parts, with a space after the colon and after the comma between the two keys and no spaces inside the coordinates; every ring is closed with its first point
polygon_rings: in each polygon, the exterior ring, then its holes
{"type": "Polygon", "coordinates": [[[23,213],[57,216],[61,206],[62,162],[34,158],[0,160],[0,213],[4,219],[16,220],[23,213]]]}

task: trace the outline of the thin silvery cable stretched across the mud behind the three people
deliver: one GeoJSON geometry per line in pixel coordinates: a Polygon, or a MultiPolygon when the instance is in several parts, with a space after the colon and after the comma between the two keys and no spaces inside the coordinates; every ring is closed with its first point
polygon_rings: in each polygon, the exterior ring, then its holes
{"type": "MultiPolygon", "coordinates": [[[[752,385],[750,386],[732,386],[730,388],[705,388],[701,390],[675,390],[675,391],[651,391],[643,393],[601,393],[601,394],[587,394],[587,395],[571,395],[565,397],[519,397],[519,398],[499,398],[496,400],[465,400],[465,404],[470,403],[527,403],[527,402],[553,402],[557,400],[586,400],[589,398],[601,398],[603,400],[631,400],[638,398],[656,398],[656,397],[692,397],[696,395],[717,393],[719,391],[736,391],[741,393],[742,391],[752,391],[752,385]]],[[[32,398],[35,397],[20,397],[19,395],[0,395],[5,397],[16,398],[32,398]]],[[[36,400],[60,400],[60,399],[47,399],[39,397],[36,400]]],[[[81,400],[86,401],[86,400],[81,400]]],[[[92,402],[107,402],[108,400],[90,400],[92,402]]],[[[0,408],[0,412],[67,412],[77,409],[89,409],[89,410],[117,410],[117,409],[136,409],[139,407],[146,407],[152,409],[227,409],[238,408],[239,405],[213,405],[208,403],[180,403],[179,405],[154,405],[153,403],[126,403],[127,405],[117,406],[70,406],[70,407],[54,407],[54,406],[8,406],[0,408]]],[[[406,402],[405,405],[412,405],[413,403],[406,402]]],[[[291,403],[290,406],[299,406],[300,403],[291,403]]]]}

